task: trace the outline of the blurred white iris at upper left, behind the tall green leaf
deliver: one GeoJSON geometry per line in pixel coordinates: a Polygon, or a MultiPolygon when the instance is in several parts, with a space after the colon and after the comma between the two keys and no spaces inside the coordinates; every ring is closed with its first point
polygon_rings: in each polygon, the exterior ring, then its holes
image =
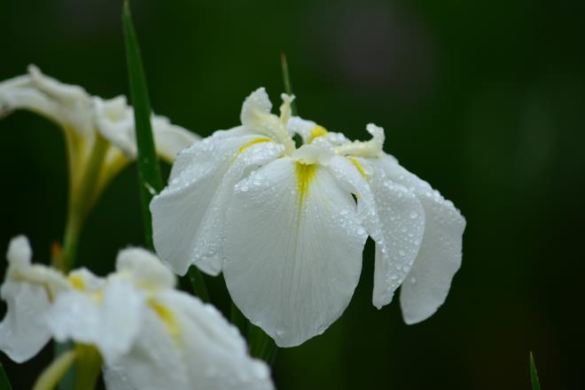
{"type": "MultiPolygon", "coordinates": [[[[113,176],[136,159],[134,114],[124,97],[92,97],[82,87],[58,82],[28,66],[28,74],[0,82],[0,117],[20,109],[39,113],[63,129],[70,201],[79,214],[90,209],[113,176]]],[[[158,115],[152,115],[152,131],[158,155],[168,162],[199,139],[158,115]]]]}

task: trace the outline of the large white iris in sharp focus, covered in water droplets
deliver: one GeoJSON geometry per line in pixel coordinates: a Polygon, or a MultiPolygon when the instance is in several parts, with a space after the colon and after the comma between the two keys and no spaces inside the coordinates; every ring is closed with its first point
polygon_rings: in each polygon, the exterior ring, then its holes
{"type": "Polygon", "coordinates": [[[242,126],[181,152],[151,203],[157,252],[177,274],[223,272],[238,308],[281,347],[322,333],[345,308],[376,241],[373,303],[402,285],[405,321],[433,315],[461,263],[464,217],[382,151],[384,130],[350,142],[312,121],[280,117],[265,90],[242,126]],[[296,149],[292,135],[302,136],[296,149]]]}

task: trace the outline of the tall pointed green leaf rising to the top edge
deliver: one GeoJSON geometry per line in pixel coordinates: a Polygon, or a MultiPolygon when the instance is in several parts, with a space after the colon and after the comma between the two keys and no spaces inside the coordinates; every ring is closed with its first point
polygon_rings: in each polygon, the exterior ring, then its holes
{"type": "Polygon", "coordinates": [[[152,215],[149,204],[152,197],[162,190],[162,178],[152,137],[151,103],[148,98],[144,67],[128,0],[124,2],[122,25],[126,42],[130,101],[134,106],[134,121],[136,123],[136,146],[138,150],[136,165],[142,203],[144,239],[146,245],[152,248],[152,215]]]}

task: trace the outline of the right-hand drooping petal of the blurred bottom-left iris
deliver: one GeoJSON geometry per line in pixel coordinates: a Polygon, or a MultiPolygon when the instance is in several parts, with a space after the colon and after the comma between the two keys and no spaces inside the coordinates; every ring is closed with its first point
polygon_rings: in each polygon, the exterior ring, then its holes
{"type": "Polygon", "coordinates": [[[245,340],[211,305],[183,292],[156,297],[173,309],[189,382],[209,390],[273,388],[268,366],[247,353],[245,340]]]}

